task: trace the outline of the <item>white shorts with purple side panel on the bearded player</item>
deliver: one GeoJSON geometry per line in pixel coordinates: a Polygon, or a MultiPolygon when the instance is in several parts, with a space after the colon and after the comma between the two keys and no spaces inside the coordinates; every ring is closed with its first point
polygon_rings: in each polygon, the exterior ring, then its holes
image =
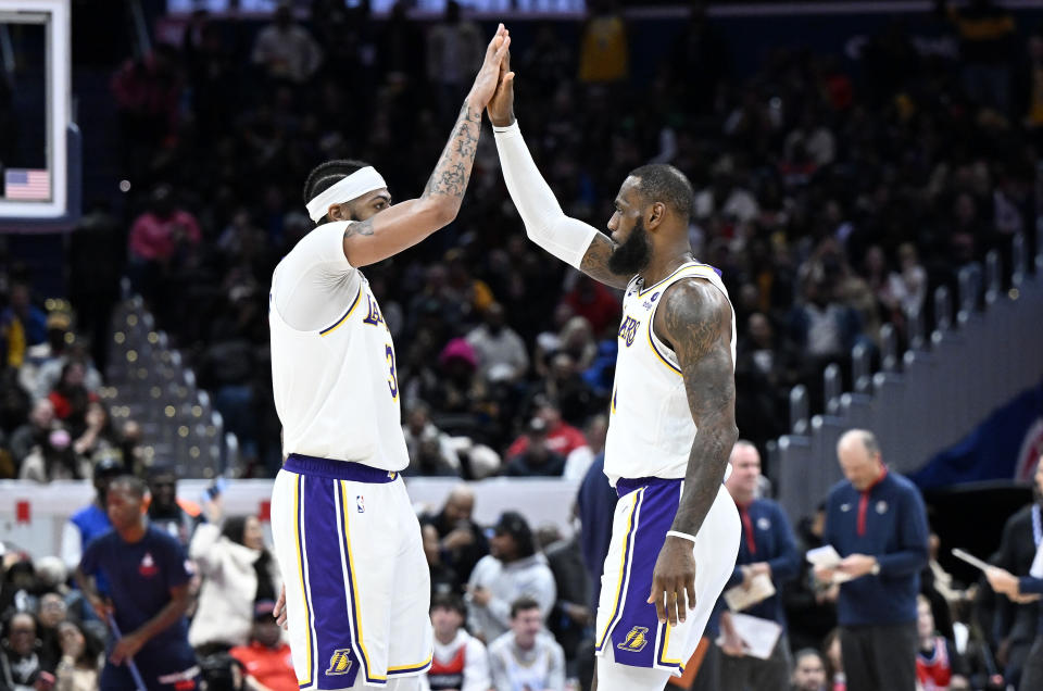
{"type": "MultiPolygon", "coordinates": [[[[695,652],[739,553],[736,502],[724,485],[695,536],[695,607],[677,626],[659,624],[649,604],[652,571],[681,499],[683,481],[620,478],[612,541],[601,579],[595,653],[613,646],[615,662],[680,676],[695,652]]],[[[691,603],[689,603],[691,606],[691,603]]]]}

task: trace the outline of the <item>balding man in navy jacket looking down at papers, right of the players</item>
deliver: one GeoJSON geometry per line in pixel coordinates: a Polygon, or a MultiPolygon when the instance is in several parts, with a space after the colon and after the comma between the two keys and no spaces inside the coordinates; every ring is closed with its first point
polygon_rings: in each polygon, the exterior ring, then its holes
{"type": "Polygon", "coordinates": [[[845,480],[829,493],[826,542],[843,557],[838,619],[847,689],[916,683],[916,594],[927,565],[927,513],[916,487],[889,473],[872,432],[852,429],[837,444],[845,480]]]}

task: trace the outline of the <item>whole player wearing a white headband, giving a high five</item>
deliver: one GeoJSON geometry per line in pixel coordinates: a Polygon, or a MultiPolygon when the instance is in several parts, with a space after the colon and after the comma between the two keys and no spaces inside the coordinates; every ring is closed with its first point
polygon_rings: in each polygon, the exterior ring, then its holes
{"type": "Polygon", "coordinates": [[[394,347],[359,268],[456,216],[508,45],[501,24],[419,199],[392,206],[366,164],[319,165],[304,184],[316,227],[272,276],[272,384],[286,456],[272,531],[301,689],[412,690],[431,664],[427,562],[399,477],[409,455],[394,347]]]}

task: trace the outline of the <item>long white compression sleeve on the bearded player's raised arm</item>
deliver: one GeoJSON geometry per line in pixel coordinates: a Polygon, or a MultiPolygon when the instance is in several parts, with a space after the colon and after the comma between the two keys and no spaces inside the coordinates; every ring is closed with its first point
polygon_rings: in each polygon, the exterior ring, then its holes
{"type": "Polygon", "coordinates": [[[569,218],[562,211],[539,168],[532,161],[517,121],[507,127],[493,127],[503,180],[511,199],[525,223],[525,231],[533,242],[579,268],[598,229],[582,221],[569,218]]]}

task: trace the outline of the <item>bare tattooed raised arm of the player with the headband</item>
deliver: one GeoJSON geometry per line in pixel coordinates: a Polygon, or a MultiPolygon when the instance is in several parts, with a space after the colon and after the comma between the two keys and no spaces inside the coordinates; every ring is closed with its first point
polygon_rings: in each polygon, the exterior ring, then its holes
{"type": "Polygon", "coordinates": [[[456,217],[478,150],[481,112],[492,98],[500,62],[510,45],[511,38],[501,24],[419,199],[398,203],[344,229],[344,256],[352,266],[375,264],[398,254],[456,217]]]}

